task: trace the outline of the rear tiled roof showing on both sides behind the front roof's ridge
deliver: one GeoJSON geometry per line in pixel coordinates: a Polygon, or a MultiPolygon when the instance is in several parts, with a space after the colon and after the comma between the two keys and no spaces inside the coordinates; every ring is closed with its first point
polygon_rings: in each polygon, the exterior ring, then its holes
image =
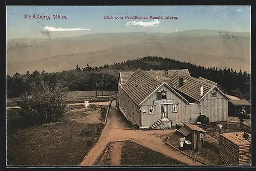
{"type": "MultiPolygon", "coordinates": [[[[144,70],[151,77],[159,80],[161,83],[168,83],[169,80],[173,77],[175,72],[178,72],[180,75],[185,75],[190,77],[188,69],[168,69],[167,75],[166,70],[144,70]]],[[[133,74],[133,71],[120,71],[118,79],[120,77],[121,84],[123,85],[127,79],[133,74]]]]}

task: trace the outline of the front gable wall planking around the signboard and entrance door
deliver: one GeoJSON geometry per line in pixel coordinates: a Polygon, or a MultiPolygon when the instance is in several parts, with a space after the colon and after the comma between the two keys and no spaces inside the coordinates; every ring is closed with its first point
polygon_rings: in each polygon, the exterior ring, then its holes
{"type": "Polygon", "coordinates": [[[165,85],[158,88],[140,107],[141,111],[144,109],[146,110],[145,114],[141,114],[141,126],[142,127],[150,127],[152,126],[157,120],[162,118],[161,113],[161,105],[154,106],[154,114],[149,113],[150,106],[154,105],[154,100],[157,100],[157,92],[160,91],[167,92],[167,100],[174,100],[174,104],[178,104],[177,112],[173,113],[173,105],[167,105],[167,113],[168,119],[172,121],[172,126],[176,124],[182,124],[182,121],[185,119],[185,102],[180,99],[174,92],[170,91],[165,85]]]}

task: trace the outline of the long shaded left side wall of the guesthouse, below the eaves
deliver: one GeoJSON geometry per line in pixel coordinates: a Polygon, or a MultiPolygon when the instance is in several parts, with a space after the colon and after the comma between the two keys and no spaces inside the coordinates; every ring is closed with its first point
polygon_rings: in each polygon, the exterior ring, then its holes
{"type": "Polygon", "coordinates": [[[140,126],[140,111],[137,110],[137,106],[121,88],[118,90],[118,102],[119,108],[124,112],[126,119],[133,125],[140,126]]]}

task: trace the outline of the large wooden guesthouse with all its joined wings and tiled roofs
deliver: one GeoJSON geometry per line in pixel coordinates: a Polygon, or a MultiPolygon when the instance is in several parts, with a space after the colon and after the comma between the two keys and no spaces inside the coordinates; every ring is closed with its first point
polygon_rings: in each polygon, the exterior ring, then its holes
{"type": "Polygon", "coordinates": [[[118,77],[117,107],[132,124],[156,129],[227,120],[227,97],[216,86],[190,76],[188,69],[123,71],[118,77]]]}

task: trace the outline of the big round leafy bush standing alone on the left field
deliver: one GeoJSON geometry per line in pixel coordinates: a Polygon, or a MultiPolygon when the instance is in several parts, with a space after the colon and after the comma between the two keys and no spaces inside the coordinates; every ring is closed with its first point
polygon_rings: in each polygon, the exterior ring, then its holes
{"type": "Polygon", "coordinates": [[[30,124],[44,124],[58,121],[65,112],[68,90],[59,83],[49,87],[46,82],[30,85],[31,93],[20,96],[19,115],[30,124]]]}

